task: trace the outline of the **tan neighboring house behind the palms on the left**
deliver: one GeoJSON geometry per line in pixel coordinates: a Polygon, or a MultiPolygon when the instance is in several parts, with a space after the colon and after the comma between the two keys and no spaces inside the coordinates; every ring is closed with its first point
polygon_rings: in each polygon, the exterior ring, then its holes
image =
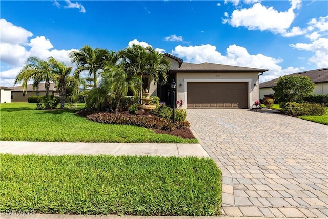
{"type": "MultiPolygon", "coordinates": [[[[12,102],[27,102],[29,96],[44,96],[46,95],[45,83],[40,83],[37,90],[33,91],[33,85],[27,85],[26,92],[23,93],[22,86],[11,87],[12,102]]],[[[55,95],[57,88],[54,83],[50,83],[49,95],[55,95]]]]}

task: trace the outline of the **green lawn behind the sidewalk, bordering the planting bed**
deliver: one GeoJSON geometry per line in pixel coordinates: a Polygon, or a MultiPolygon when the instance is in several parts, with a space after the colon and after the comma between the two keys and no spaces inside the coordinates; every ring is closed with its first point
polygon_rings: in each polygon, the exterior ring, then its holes
{"type": "Polygon", "coordinates": [[[198,143],[196,139],[156,134],[142,127],[92,122],[76,115],[76,109],[35,110],[35,106],[32,103],[0,104],[0,140],[198,143]]]}

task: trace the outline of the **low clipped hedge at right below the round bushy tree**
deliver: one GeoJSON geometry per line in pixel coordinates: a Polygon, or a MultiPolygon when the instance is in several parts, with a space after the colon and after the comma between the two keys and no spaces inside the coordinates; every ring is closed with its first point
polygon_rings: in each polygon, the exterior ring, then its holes
{"type": "Polygon", "coordinates": [[[288,102],[283,105],[283,111],[286,114],[300,116],[300,115],[324,115],[325,107],[322,104],[315,103],[296,103],[288,102]]]}

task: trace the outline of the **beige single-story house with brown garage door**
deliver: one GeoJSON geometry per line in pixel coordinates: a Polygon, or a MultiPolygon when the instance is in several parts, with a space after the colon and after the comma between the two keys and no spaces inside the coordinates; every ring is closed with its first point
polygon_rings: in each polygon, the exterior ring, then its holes
{"type": "MultiPolygon", "coordinates": [[[[192,64],[165,53],[171,62],[165,85],[150,83],[148,90],[167,105],[172,103],[171,83],[176,82],[176,100],[185,108],[251,108],[259,99],[259,75],[267,69],[214,63],[192,64]]],[[[149,78],[151,81],[151,78],[149,78]]]]}

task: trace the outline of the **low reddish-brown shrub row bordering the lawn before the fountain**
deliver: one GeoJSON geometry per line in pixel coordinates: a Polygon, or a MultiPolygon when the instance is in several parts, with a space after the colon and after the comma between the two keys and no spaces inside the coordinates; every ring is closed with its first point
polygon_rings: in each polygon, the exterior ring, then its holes
{"type": "Polygon", "coordinates": [[[87,118],[94,122],[105,124],[134,125],[150,129],[161,129],[165,131],[172,131],[174,129],[174,125],[171,121],[159,117],[97,112],[88,115],[87,118]]]}

